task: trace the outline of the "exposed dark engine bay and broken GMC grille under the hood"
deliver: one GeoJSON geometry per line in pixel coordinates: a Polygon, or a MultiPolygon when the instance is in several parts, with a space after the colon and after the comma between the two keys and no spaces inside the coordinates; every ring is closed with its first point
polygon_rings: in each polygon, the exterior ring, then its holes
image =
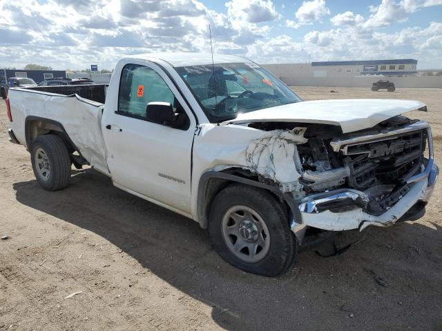
{"type": "Polygon", "coordinates": [[[299,182],[304,193],[357,190],[367,196],[367,201],[349,199],[352,201],[322,208],[337,212],[362,207],[369,214],[379,215],[410,190],[407,180],[423,169],[427,131],[421,128],[401,133],[401,129],[416,122],[396,116],[368,130],[350,134],[343,134],[338,126],[314,123],[251,123],[249,126],[260,130],[306,128],[304,137],[308,141],[296,146],[298,160],[295,160],[300,166],[299,182]],[[370,139],[387,132],[390,134],[383,138],[370,139]]]}

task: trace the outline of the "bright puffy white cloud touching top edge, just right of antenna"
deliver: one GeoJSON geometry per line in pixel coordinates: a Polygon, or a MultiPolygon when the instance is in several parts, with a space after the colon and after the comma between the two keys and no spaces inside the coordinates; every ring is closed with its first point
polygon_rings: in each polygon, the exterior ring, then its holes
{"type": "Polygon", "coordinates": [[[273,21],[280,17],[271,0],[231,0],[226,7],[229,17],[249,23],[273,21]]]}

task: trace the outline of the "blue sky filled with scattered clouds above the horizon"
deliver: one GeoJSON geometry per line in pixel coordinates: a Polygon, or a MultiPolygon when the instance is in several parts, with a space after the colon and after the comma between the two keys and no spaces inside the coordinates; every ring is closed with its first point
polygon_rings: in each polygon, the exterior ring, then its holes
{"type": "Polygon", "coordinates": [[[215,52],[258,63],[413,58],[442,68],[442,0],[0,1],[0,67],[209,52],[209,24],[215,52]]]}

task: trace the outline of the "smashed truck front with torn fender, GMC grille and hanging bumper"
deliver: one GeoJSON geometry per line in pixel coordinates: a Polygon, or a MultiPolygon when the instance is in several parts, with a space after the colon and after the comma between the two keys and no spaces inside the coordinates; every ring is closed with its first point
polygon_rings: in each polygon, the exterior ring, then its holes
{"type": "Polygon", "coordinates": [[[421,217],[439,174],[423,121],[396,116],[347,134],[324,124],[249,126],[279,132],[249,145],[247,165],[278,183],[300,241],[306,227],[363,230],[421,217]]]}

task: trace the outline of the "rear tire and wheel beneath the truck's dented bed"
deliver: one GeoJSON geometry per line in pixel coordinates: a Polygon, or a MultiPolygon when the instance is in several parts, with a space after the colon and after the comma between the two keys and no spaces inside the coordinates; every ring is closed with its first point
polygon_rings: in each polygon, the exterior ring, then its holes
{"type": "Polygon", "coordinates": [[[70,177],[70,158],[63,141],[54,134],[37,137],[31,148],[32,170],[42,188],[66,188],[70,177]]]}

